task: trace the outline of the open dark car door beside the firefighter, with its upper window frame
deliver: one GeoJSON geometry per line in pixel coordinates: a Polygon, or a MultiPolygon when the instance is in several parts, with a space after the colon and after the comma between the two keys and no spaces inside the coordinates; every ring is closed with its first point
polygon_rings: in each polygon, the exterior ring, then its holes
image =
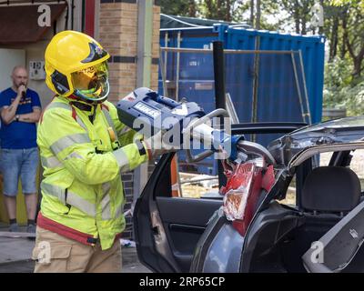
{"type": "MultiPolygon", "coordinates": [[[[232,134],[288,133],[302,125],[240,124],[233,126],[232,134]]],[[[139,260],[154,272],[188,272],[197,253],[198,260],[203,262],[207,255],[201,254],[201,250],[207,250],[201,244],[210,242],[217,228],[223,227],[226,221],[221,216],[214,216],[217,217],[217,221],[212,222],[215,227],[207,229],[211,217],[222,206],[223,197],[217,194],[217,188],[213,193],[205,193],[198,198],[174,195],[176,190],[171,182],[173,156],[168,154],[161,157],[136,201],[133,216],[139,260]]],[[[192,187],[198,186],[195,184],[192,187]]],[[[198,265],[196,257],[194,265],[198,265]]]]}

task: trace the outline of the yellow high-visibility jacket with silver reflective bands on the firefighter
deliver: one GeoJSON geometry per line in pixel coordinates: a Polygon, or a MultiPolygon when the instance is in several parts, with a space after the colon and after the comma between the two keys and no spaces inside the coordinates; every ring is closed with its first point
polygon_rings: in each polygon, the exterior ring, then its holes
{"type": "Polygon", "coordinates": [[[56,96],[37,129],[44,179],[37,225],[102,249],[125,229],[120,177],[148,160],[141,136],[117,118],[110,102],[91,111],[56,96]],[[84,109],[84,108],[83,108],[84,109]]]}

